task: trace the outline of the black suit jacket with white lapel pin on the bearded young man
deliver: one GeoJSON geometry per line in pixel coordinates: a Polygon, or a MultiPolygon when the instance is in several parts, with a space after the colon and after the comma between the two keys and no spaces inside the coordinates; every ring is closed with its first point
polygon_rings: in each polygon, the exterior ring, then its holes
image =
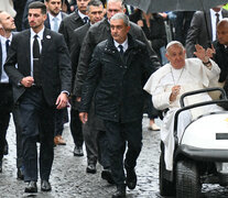
{"type": "MultiPolygon", "coordinates": [[[[30,30],[13,36],[4,64],[4,69],[13,84],[14,102],[26,89],[20,85],[21,79],[31,76],[30,36],[30,30]]],[[[54,106],[61,91],[70,92],[70,61],[63,35],[48,29],[44,30],[40,64],[45,101],[48,106],[54,106]]]]}

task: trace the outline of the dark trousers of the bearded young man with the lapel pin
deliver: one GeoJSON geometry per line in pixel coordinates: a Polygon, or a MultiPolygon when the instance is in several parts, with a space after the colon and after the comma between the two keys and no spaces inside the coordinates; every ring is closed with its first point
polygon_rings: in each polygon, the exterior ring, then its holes
{"type": "Polygon", "coordinates": [[[24,182],[37,180],[37,136],[40,139],[40,176],[48,180],[53,158],[55,108],[47,106],[41,88],[26,88],[20,99],[24,182]]]}

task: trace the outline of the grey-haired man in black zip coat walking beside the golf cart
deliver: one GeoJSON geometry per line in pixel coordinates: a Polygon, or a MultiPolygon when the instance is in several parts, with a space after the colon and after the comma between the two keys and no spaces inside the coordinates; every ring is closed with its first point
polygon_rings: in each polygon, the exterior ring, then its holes
{"type": "Polygon", "coordinates": [[[123,13],[110,20],[111,37],[99,43],[83,87],[80,120],[88,120],[95,96],[95,113],[104,120],[108,138],[111,173],[117,185],[112,198],[126,197],[137,185],[134,167],[142,146],[143,81],[154,70],[145,44],[132,38],[123,13]],[[128,150],[126,151],[126,143],[128,150]],[[127,179],[123,170],[127,170],[127,179]]]}

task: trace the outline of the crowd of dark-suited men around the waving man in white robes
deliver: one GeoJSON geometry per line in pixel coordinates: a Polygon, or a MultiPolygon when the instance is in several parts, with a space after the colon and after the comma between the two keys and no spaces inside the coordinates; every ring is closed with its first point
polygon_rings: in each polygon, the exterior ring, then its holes
{"type": "MultiPolygon", "coordinates": [[[[161,140],[171,169],[173,118],[181,95],[210,86],[228,89],[228,11],[221,6],[205,12],[145,13],[122,0],[4,3],[0,173],[12,113],[18,178],[28,183],[25,193],[37,193],[39,172],[41,190],[52,190],[54,146],[66,144],[62,133],[69,120],[73,154],[83,156],[85,143],[86,172],[96,174],[99,163],[101,177],[117,187],[112,198],[126,197],[126,187],[137,185],[143,112],[150,118],[149,130],[158,131],[154,119],[159,110],[169,109],[161,140]]],[[[211,98],[205,94],[200,99],[211,98]]],[[[221,108],[203,111],[217,110],[221,108]]],[[[200,113],[181,116],[178,135],[200,113]]]]}

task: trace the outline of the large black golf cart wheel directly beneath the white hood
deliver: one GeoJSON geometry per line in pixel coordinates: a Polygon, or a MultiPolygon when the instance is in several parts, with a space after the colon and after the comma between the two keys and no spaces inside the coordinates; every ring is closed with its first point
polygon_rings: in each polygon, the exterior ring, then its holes
{"type": "Polygon", "coordinates": [[[195,162],[180,161],[176,164],[176,198],[200,197],[202,184],[195,162]]]}

